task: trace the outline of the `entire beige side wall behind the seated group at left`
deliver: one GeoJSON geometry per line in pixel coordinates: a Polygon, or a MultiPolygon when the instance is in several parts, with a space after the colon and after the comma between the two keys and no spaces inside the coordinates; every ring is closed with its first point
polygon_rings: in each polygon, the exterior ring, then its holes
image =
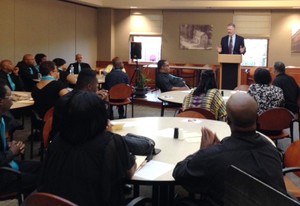
{"type": "Polygon", "coordinates": [[[53,0],[0,1],[0,59],[15,63],[25,53],[74,61],[76,53],[96,65],[97,9],[53,0]]]}

